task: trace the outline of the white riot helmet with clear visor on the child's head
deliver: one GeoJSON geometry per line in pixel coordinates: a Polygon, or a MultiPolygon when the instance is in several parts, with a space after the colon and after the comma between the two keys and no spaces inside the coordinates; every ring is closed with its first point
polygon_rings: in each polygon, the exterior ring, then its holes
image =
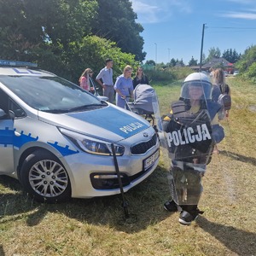
{"type": "Polygon", "coordinates": [[[181,98],[191,99],[191,90],[201,90],[201,100],[212,99],[212,83],[204,73],[191,73],[184,79],[181,89],[181,98]]]}

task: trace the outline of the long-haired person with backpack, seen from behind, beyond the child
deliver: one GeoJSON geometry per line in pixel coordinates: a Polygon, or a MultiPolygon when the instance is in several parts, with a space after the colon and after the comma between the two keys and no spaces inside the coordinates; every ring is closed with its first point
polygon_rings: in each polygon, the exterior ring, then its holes
{"type": "Polygon", "coordinates": [[[231,108],[230,86],[225,83],[225,74],[221,68],[217,68],[213,73],[212,101],[218,102],[223,108],[218,115],[219,119],[229,117],[231,108]]]}

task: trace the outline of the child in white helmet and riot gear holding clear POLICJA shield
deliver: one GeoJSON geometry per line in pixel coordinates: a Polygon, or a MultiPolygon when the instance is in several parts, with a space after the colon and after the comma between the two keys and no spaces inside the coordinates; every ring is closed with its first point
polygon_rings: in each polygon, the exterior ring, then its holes
{"type": "Polygon", "coordinates": [[[179,101],[172,103],[162,119],[166,147],[171,158],[172,200],[165,209],[180,212],[179,222],[190,224],[202,213],[199,203],[201,177],[211,160],[215,143],[224,138],[218,125],[218,103],[212,102],[212,84],[207,75],[192,73],[183,82],[179,101]]]}

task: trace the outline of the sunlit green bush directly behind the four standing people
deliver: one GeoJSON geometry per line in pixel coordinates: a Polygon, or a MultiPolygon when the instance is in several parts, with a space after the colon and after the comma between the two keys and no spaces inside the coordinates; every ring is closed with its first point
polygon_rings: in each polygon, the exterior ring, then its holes
{"type": "Polygon", "coordinates": [[[94,71],[94,79],[97,73],[105,67],[107,58],[113,59],[113,81],[123,73],[126,65],[137,67],[135,55],[124,53],[116,43],[96,36],[84,37],[79,42],[71,42],[67,49],[54,48],[49,44],[44,49],[33,50],[29,61],[37,62],[38,67],[55,73],[75,84],[79,83],[79,77],[84,69],[90,67],[94,71]]]}

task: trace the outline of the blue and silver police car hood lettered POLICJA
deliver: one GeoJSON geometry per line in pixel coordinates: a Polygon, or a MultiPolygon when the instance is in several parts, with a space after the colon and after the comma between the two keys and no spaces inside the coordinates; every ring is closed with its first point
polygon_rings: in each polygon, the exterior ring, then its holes
{"type": "Polygon", "coordinates": [[[38,111],[38,119],[93,137],[119,141],[147,129],[150,124],[136,113],[109,105],[107,108],[78,113],[45,113],[38,111]]]}

